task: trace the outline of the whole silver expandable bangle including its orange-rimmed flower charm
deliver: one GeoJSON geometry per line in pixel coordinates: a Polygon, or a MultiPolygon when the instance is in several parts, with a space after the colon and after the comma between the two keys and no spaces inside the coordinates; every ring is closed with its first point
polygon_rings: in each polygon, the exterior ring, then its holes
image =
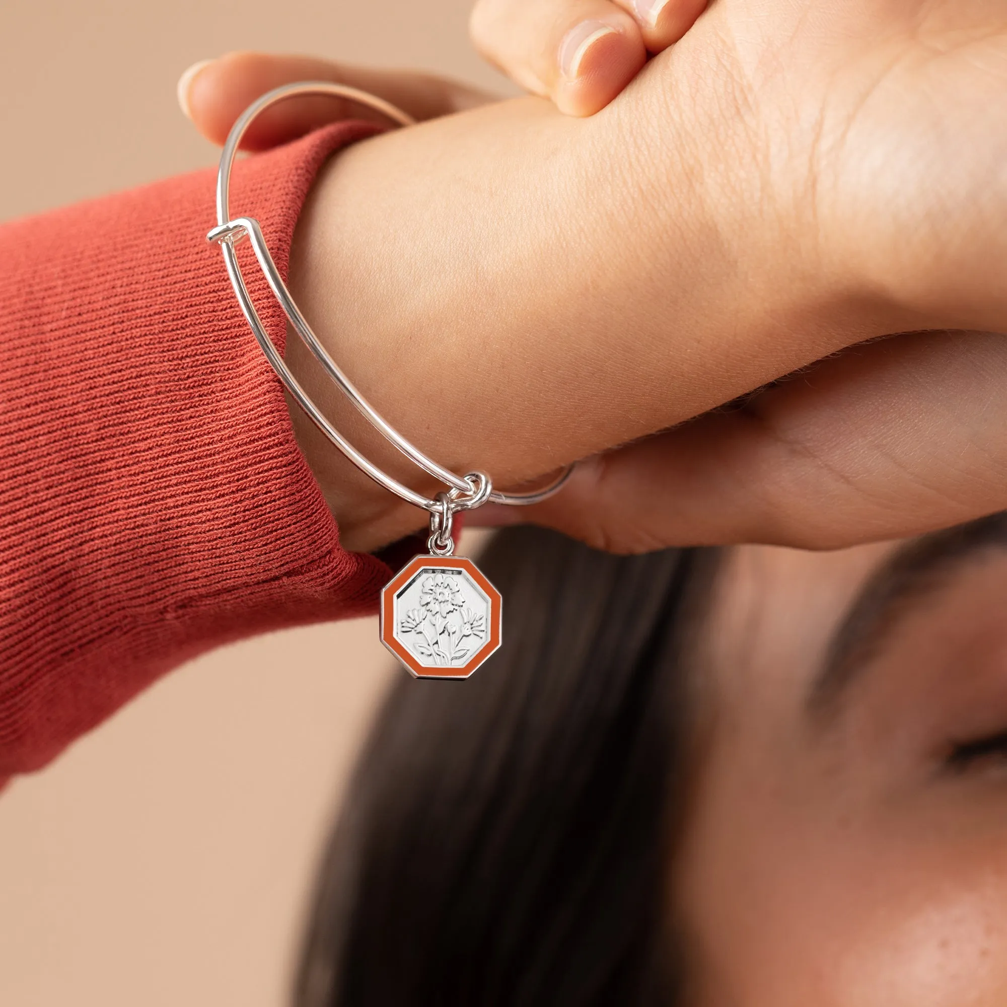
{"type": "Polygon", "coordinates": [[[348,99],[374,109],[398,126],[411,126],[414,122],[383,99],[340,84],[306,81],[270,91],[245,110],[228,135],[217,175],[217,227],[206,240],[220,245],[228,276],[256,341],[297,405],[362,471],[389,491],[430,513],[430,554],[411,560],[382,591],[382,641],[417,678],[468,678],[500,645],[501,599],[471,560],[453,555],[452,518],[458,511],[471,511],[487,501],[512,507],[541,502],[566,482],[573,466],[545,488],[524,493],[493,489],[484,472],[458,475],[403,437],[329,356],[290,296],[259,222],[251,217],[232,219],[230,209],[231,170],[249,126],[271,105],[302,95],[348,99]],[[291,327],[335,386],[375,429],[414,464],[443,482],[446,490],[427,497],[389,475],[361,454],[312,402],[274,345],[249,295],[235,251],[235,246],[245,238],[251,242],[256,261],[291,327]]]}

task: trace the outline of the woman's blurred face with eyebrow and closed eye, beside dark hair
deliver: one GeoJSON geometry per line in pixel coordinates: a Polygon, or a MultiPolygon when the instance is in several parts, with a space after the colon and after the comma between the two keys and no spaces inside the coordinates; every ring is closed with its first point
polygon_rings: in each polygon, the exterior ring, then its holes
{"type": "Polygon", "coordinates": [[[905,547],[730,551],[672,880],[689,1003],[1007,1000],[1007,525],[980,538],[868,604],[824,693],[830,637],[905,547]]]}

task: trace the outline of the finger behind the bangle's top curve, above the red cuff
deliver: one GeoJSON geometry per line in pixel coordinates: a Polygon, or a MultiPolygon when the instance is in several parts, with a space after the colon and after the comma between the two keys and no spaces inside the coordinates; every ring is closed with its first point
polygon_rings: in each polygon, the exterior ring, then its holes
{"type": "MultiPolygon", "coordinates": [[[[196,129],[223,144],[235,120],[257,98],[296,81],[328,81],[370,92],[414,119],[433,119],[490,100],[474,88],[428,74],[368,69],[310,56],[229,52],[190,66],[178,82],[178,103],[196,129]]],[[[294,98],[267,109],[242,147],[264,150],[340,119],[387,122],[379,113],[335,98],[294,98]]]]}

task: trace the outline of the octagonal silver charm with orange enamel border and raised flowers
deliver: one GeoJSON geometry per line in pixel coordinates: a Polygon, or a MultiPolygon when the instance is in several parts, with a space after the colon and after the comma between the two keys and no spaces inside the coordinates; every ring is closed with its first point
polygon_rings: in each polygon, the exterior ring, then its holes
{"type": "Polygon", "coordinates": [[[418,679],[467,679],[500,645],[501,600],[464,556],[416,556],[382,591],[382,642],[418,679]]]}

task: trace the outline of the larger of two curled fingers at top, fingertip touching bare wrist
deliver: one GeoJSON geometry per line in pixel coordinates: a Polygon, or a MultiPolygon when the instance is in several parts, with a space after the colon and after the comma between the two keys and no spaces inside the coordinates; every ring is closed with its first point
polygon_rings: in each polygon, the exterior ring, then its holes
{"type": "Polygon", "coordinates": [[[482,55],[569,115],[603,108],[646,61],[636,20],[609,0],[479,0],[469,27],[482,55]]]}

